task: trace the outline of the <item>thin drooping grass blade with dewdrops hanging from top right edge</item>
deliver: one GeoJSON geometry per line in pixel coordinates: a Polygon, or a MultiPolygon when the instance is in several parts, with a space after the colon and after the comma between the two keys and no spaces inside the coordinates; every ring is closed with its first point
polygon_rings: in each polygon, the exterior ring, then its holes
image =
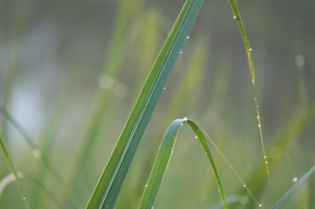
{"type": "Polygon", "coordinates": [[[264,145],[264,140],[263,140],[263,132],[262,132],[262,127],[261,127],[261,122],[260,122],[260,113],[259,113],[259,105],[258,105],[258,100],[257,100],[257,93],[256,93],[256,81],[255,81],[255,70],[254,70],[254,62],[253,62],[253,57],[252,57],[252,48],[250,47],[250,43],[248,41],[245,28],[241,19],[241,15],[238,9],[238,6],[235,2],[235,0],[228,0],[228,4],[233,12],[234,19],[238,23],[239,30],[241,32],[243,42],[245,45],[247,57],[248,57],[248,63],[250,65],[250,71],[251,71],[251,76],[252,76],[252,82],[253,82],[253,87],[254,87],[254,93],[255,93],[255,102],[256,102],[256,112],[257,112],[257,120],[258,120],[258,128],[259,128],[259,134],[260,134],[260,140],[261,140],[261,145],[263,149],[263,155],[264,155],[264,160],[265,160],[265,165],[266,165],[266,171],[267,171],[267,176],[269,183],[271,183],[270,180],[270,175],[269,175],[269,169],[268,169],[268,161],[267,161],[267,155],[265,151],[265,145],[264,145]]]}

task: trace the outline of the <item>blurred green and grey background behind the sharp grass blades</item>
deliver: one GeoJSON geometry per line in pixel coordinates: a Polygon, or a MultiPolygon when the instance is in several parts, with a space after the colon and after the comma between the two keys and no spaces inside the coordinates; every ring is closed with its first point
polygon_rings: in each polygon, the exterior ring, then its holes
{"type": "MultiPolygon", "coordinates": [[[[0,4],[0,105],[42,151],[30,147],[8,119],[0,117],[13,163],[23,171],[21,183],[30,206],[83,208],[184,1],[0,4]]],[[[315,4],[239,1],[238,6],[253,48],[272,184],[261,168],[255,97],[237,24],[227,2],[206,1],[116,208],[137,207],[167,127],[191,114],[263,208],[270,208],[295,177],[315,164],[315,4]]],[[[192,131],[182,129],[154,208],[209,208],[220,202],[202,152],[192,131]]],[[[216,151],[212,153],[227,199],[238,201],[229,208],[253,208],[241,182],[216,151]]],[[[11,170],[5,155],[0,157],[4,179],[11,170]]],[[[282,208],[313,208],[314,189],[312,176],[282,208]]],[[[15,182],[2,191],[0,205],[24,207],[15,182]]]]}

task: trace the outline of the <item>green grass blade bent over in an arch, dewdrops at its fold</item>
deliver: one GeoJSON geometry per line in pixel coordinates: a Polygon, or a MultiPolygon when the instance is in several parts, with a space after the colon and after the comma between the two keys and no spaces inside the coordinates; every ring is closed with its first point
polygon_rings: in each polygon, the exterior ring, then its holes
{"type": "Polygon", "coordinates": [[[200,144],[201,144],[202,148],[204,149],[204,151],[207,155],[207,158],[210,162],[211,168],[213,170],[215,180],[217,182],[217,185],[218,185],[218,188],[220,191],[220,195],[221,195],[221,199],[222,199],[222,203],[223,203],[223,208],[227,208],[221,180],[220,180],[219,174],[217,172],[214,160],[212,158],[208,143],[207,143],[202,131],[196,125],[196,123],[194,123],[191,120],[187,120],[185,118],[185,119],[174,120],[171,123],[171,125],[169,126],[169,129],[167,130],[167,132],[163,138],[163,141],[161,143],[161,146],[159,148],[159,152],[157,153],[157,156],[156,156],[153,168],[151,170],[151,174],[149,176],[148,182],[145,185],[145,189],[144,189],[143,196],[142,196],[142,199],[141,199],[141,202],[139,205],[139,209],[153,208],[152,205],[153,205],[153,202],[155,200],[157,191],[159,190],[160,185],[162,183],[162,180],[163,180],[163,177],[165,175],[167,166],[169,164],[172,150],[174,148],[174,144],[175,144],[175,141],[177,138],[179,128],[181,127],[181,125],[183,123],[187,123],[192,128],[192,130],[194,131],[196,136],[198,137],[200,144]]]}

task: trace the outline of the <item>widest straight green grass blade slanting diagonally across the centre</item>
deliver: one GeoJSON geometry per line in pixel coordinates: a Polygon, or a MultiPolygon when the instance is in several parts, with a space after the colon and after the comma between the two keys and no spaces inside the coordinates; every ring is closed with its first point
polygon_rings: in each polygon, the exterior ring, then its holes
{"type": "Polygon", "coordinates": [[[87,204],[87,209],[113,208],[140,142],[165,84],[199,13],[203,1],[188,0],[131,111],[117,144],[87,204]]]}

